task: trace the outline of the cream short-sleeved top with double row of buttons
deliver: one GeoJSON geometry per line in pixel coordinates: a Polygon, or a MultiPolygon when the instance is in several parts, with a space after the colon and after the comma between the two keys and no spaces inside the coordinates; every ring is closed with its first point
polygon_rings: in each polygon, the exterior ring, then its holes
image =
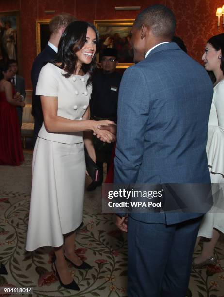
{"type": "MultiPolygon", "coordinates": [[[[66,72],[52,63],[47,63],[40,71],[36,95],[52,96],[58,99],[57,115],[70,120],[82,120],[92,93],[92,86],[86,88],[88,74],[71,75],[65,78],[66,72]]],[[[50,99],[49,99],[50,100],[50,99]]],[[[82,132],[49,133],[43,123],[39,137],[61,143],[79,143],[83,141],[82,132]]]]}

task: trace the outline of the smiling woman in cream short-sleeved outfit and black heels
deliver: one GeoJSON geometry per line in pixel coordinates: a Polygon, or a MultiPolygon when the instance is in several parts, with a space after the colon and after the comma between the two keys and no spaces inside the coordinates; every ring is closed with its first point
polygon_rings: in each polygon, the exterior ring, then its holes
{"type": "Polygon", "coordinates": [[[74,290],[79,287],[66,261],[78,269],[91,268],[74,253],[75,230],[82,222],[84,145],[96,162],[90,134],[94,132],[103,141],[114,141],[112,133],[98,128],[113,124],[112,121],[89,120],[98,44],[98,32],[92,24],[69,24],[61,37],[56,60],[42,68],[36,87],[44,123],[33,153],[26,249],[55,247],[53,269],[61,285],[74,290]]]}

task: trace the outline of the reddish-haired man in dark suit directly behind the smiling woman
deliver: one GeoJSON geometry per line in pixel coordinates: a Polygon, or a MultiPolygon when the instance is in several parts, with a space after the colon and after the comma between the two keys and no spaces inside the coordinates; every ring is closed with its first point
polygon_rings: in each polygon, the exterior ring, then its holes
{"type": "Polygon", "coordinates": [[[31,80],[32,80],[32,115],[34,116],[34,134],[33,134],[33,143],[35,145],[38,133],[43,123],[43,112],[41,108],[40,96],[36,94],[36,85],[38,82],[38,77],[41,68],[51,60],[56,58],[58,52],[59,40],[64,32],[64,29],[67,25],[75,21],[75,17],[62,13],[60,15],[54,16],[50,23],[50,39],[45,49],[36,57],[33,62],[31,70],[31,80]]]}

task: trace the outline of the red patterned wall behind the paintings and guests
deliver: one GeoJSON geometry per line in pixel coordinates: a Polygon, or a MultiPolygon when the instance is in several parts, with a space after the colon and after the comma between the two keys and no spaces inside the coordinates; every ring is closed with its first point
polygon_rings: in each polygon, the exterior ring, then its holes
{"type": "Polygon", "coordinates": [[[9,0],[0,1],[1,11],[20,11],[21,27],[21,73],[26,88],[32,89],[30,70],[36,56],[36,19],[49,19],[45,10],[55,14],[67,12],[77,19],[93,22],[94,19],[132,19],[137,11],[115,11],[114,6],[141,6],[164,4],[170,7],[177,18],[176,35],[187,45],[188,53],[200,62],[206,40],[218,34],[217,7],[224,0],[9,0]]]}

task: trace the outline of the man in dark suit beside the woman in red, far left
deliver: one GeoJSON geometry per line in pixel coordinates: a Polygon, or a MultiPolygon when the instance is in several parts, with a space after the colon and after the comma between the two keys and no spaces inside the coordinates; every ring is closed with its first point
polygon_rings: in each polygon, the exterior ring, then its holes
{"type": "MultiPolygon", "coordinates": [[[[17,74],[18,72],[18,63],[16,60],[9,60],[9,66],[11,67],[11,70],[13,71],[13,77],[10,79],[12,82],[15,91],[20,93],[20,101],[24,101],[26,97],[26,91],[25,91],[25,81],[24,78],[17,74]]],[[[22,117],[23,117],[23,108],[21,106],[16,106],[18,118],[19,118],[19,125],[20,128],[22,126],[22,117]]]]}

